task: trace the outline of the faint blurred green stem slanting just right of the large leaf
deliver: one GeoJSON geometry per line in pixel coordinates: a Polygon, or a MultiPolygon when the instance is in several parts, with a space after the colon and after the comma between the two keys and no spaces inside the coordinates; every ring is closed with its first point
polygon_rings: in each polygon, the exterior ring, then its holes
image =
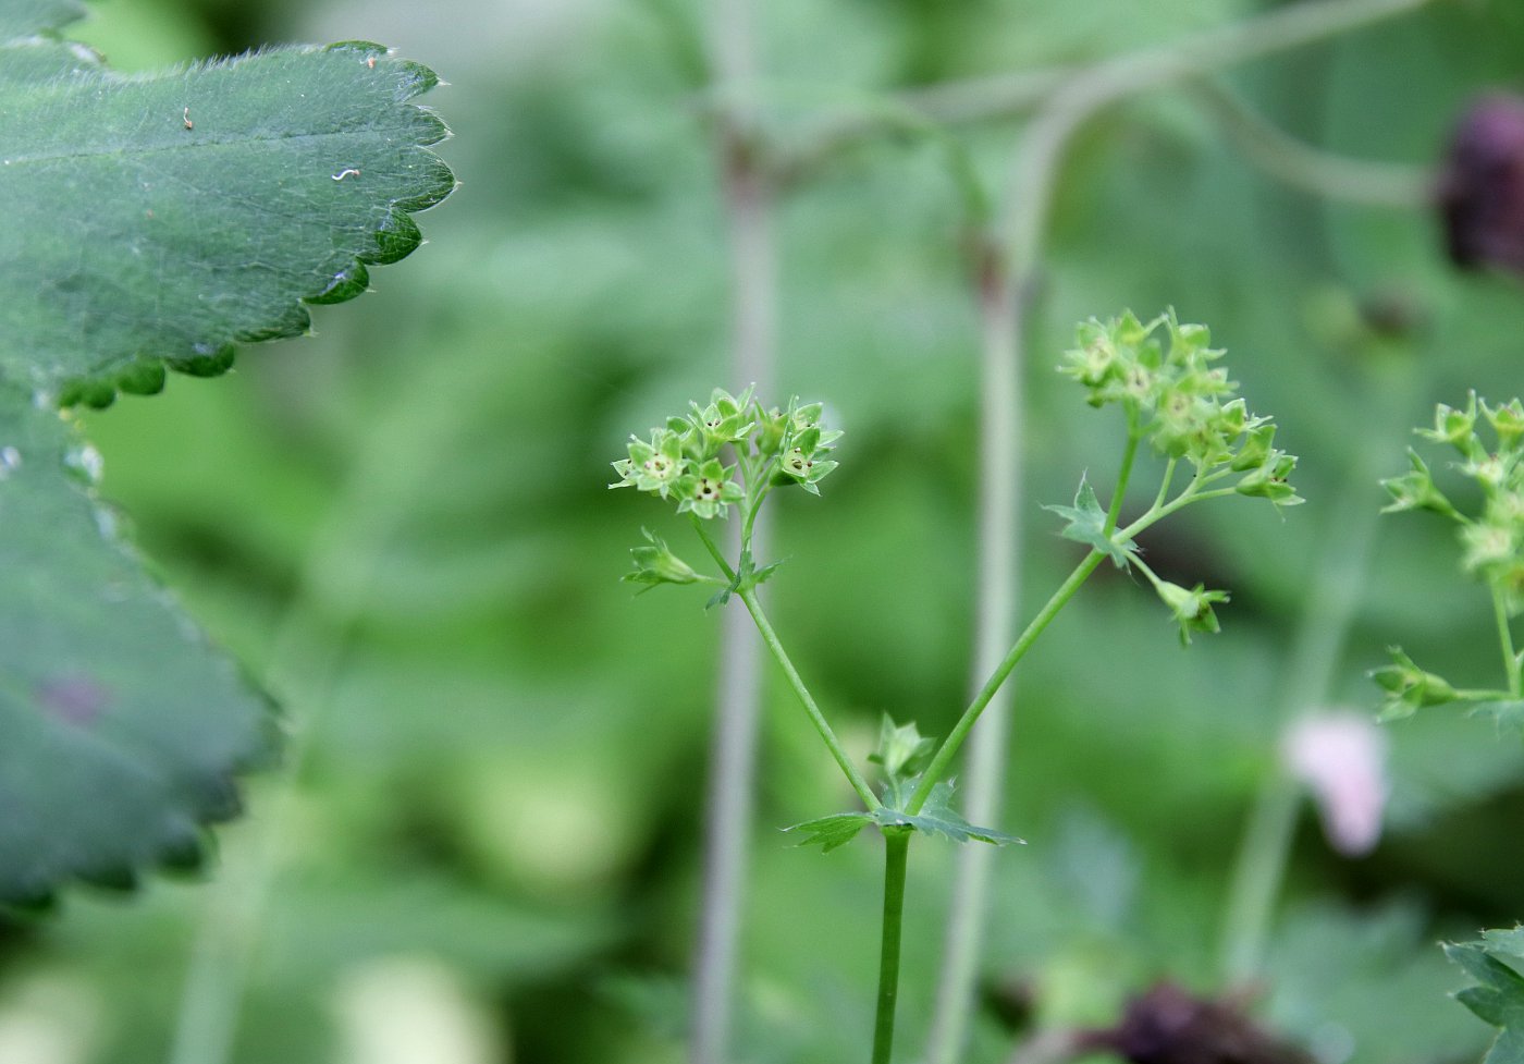
{"type": "MultiPolygon", "coordinates": [[[[259,934],[279,886],[288,843],[297,831],[297,787],[312,730],[338,681],[349,627],[366,608],[392,532],[410,512],[418,485],[442,456],[454,453],[469,396],[491,401],[491,389],[462,380],[466,360],[428,360],[418,380],[370,419],[355,462],[323,524],[312,535],[297,591],[271,640],[264,675],[285,713],[285,764],[268,779],[244,838],[209,887],[175,1021],[169,1064],[227,1064],[233,1059],[239,1014],[259,934]],[[434,441],[434,447],[419,447],[434,441]]],[[[230,848],[235,849],[235,848],[230,848]]]]}

